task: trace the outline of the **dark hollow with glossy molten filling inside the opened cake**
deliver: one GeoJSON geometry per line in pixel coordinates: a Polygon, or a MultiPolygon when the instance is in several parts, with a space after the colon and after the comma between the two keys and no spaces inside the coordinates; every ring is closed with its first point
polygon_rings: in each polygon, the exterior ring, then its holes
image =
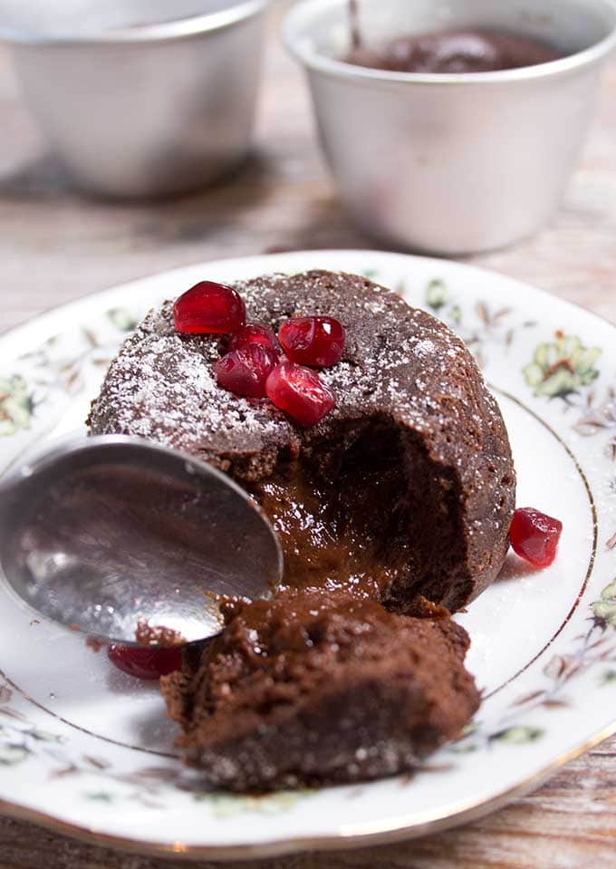
{"type": "Polygon", "coordinates": [[[253,494],[284,552],[283,588],[346,591],[409,611],[467,596],[457,484],[409,430],[365,421],[253,494]]]}

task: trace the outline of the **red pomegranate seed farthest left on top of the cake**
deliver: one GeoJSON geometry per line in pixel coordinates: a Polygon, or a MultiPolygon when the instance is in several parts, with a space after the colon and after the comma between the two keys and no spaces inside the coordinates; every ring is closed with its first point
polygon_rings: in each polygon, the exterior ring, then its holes
{"type": "Polygon", "coordinates": [[[191,286],[173,305],[173,323],[178,332],[226,334],[237,332],[245,322],[242,296],[233,287],[214,281],[191,286]]]}

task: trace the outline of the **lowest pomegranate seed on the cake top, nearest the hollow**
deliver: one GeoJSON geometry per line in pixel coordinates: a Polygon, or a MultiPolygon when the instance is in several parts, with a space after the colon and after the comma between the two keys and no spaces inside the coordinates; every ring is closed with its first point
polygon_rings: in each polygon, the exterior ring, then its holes
{"type": "Polygon", "coordinates": [[[316,372],[295,362],[281,362],[267,378],[265,391],[277,408],[303,426],[312,426],[332,410],[336,400],[316,372]]]}

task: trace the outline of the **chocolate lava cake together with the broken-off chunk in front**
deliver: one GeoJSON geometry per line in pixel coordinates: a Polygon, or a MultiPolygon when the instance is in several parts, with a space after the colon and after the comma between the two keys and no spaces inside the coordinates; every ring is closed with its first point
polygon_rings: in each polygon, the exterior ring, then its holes
{"type": "Polygon", "coordinates": [[[235,290],[275,332],[298,315],[343,324],[342,358],[319,372],[333,405],[321,420],[221,388],[229,337],[178,332],[171,302],[123,344],[89,418],[93,434],[225,471],[283,548],[274,599],[223,604],[220,636],[161,681],[178,744],[236,791],[409,770],[479,703],[448,610],[505,559],[515,472],[502,416],[448,327],[364,277],[266,275],[235,290]]]}

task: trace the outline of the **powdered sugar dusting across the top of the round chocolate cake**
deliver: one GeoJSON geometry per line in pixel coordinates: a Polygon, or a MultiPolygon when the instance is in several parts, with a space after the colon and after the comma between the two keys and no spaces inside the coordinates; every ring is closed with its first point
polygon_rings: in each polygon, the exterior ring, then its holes
{"type": "Polygon", "coordinates": [[[236,456],[252,456],[252,470],[234,469],[249,477],[271,470],[281,450],[296,453],[343,420],[390,414],[429,438],[476,491],[485,485],[483,460],[469,462],[468,450],[480,459],[486,427],[501,431],[502,420],[470,353],[444,323],[355,275],[265,275],[236,289],[248,320],[274,330],[293,315],[341,320],[347,331],[342,362],[321,372],[336,398],[331,414],[302,430],[269,401],[221,389],[212,368],[221,340],[176,333],[168,302],[140,323],[112,363],[92,407],[92,430],[155,439],[224,468],[233,469],[236,456]],[[255,470],[266,450],[266,467],[255,470]]]}

